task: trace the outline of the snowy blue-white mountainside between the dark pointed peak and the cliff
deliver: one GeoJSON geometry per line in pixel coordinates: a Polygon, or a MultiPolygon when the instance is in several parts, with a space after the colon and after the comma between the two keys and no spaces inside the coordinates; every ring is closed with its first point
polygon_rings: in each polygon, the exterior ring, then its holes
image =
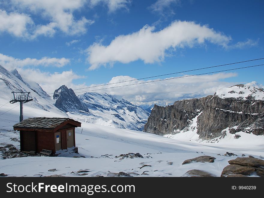
{"type": "Polygon", "coordinates": [[[75,111],[67,114],[77,120],[120,129],[142,131],[149,113],[137,105],[107,93],[87,92],[78,96],[89,112],[75,111]]]}

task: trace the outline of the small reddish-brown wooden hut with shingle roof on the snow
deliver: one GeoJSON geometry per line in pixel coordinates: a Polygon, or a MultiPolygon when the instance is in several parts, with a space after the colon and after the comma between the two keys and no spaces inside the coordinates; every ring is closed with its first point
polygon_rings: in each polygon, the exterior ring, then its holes
{"type": "Polygon", "coordinates": [[[53,154],[62,149],[75,147],[75,127],[81,123],[70,118],[33,117],[16,123],[14,130],[20,131],[20,150],[41,152],[51,150],[53,154]]]}

